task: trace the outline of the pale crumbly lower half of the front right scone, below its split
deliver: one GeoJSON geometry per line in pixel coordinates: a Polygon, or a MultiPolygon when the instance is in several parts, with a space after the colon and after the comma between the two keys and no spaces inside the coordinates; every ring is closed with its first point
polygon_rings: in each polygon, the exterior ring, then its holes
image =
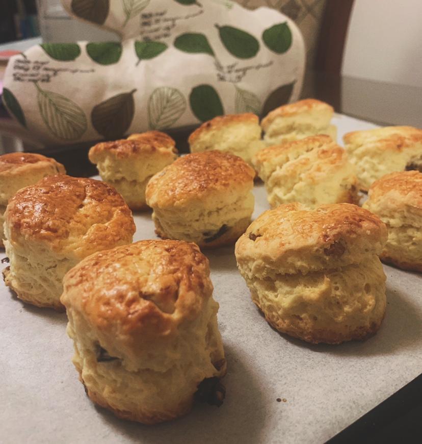
{"type": "Polygon", "coordinates": [[[277,330],[307,342],[340,343],[374,334],[386,308],[385,275],[377,256],[364,264],[249,279],[253,302],[277,330]]]}

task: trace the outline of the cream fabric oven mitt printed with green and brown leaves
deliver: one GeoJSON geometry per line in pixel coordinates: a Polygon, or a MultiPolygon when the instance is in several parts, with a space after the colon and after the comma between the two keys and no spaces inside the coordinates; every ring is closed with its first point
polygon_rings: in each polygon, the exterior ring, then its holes
{"type": "Polygon", "coordinates": [[[14,56],[3,101],[47,145],[262,116],[298,97],[305,49],[294,22],[230,0],[61,0],[109,41],[43,43],[14,56]]]}

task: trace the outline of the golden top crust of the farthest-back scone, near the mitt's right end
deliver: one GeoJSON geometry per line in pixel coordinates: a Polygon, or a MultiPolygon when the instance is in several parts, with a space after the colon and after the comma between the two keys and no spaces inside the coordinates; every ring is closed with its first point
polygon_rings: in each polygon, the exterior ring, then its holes
{"type": "Polygon", "coordinates": [[[264,131],[267,131],[268,127],[278,117],[294,117],[305,113],[325,114],[326,125],[329,125],[334,113],[334,108],[325,102],[316,100],[315,98],[305,98],[299,102],[283,105],[270,111],[267,116],[262,119],[261,127],[264,131]]]}

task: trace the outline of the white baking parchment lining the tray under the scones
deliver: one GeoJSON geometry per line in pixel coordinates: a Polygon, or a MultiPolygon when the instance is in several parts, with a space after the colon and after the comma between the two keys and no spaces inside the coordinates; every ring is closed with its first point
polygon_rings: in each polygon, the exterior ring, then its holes
{"type": "MultiPolygon", "coordinates": [[[[374,128],[336,115],[339,141],[374,128]]],[[[254,217],[268,208],[255,186],[254,217]]],[[[135,214],[134,240],[155,238],[150,212],[135,214]]],[[[0,442],[323,442],[422,372],[422,277],[384,266],[387,313],[365,342],[317,346],[273,330],[251,302],[233,247],[208,256],[228,362],[226,400],[195,404],[178,420],[118,420],[86,397],[71,363],[66,315],[22,304],[0,284],[0,442]]],[[[0,256],[4,257],[4,255],[0,256]]]]}

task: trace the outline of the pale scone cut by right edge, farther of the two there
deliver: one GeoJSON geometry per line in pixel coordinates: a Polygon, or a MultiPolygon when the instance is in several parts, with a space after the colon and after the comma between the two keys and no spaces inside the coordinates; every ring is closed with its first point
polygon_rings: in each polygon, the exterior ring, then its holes
{"type": "Polygon", "coordinates": [[[367,191],[382,176],[416,169],[422,171],[422,130],[384,127],[354,131],[344,136],[349,159],[356,165],[360,188],[367,191]]]}

